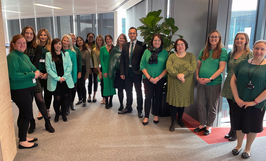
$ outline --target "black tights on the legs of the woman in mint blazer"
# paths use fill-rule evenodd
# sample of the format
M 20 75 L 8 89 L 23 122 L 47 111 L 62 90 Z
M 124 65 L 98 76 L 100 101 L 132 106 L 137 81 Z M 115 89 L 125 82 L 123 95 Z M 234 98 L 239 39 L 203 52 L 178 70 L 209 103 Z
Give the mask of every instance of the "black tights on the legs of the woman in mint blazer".
M 53 95 L 53 109 L 56 113 L 54 119 L 59 119 L 60 105 L 62 107 L 62 118 L 67 119 L 66 112 L 67 112 L 67 105 L 68 105 L 68 101 L 69 101 L 69 95 L 71 95 L 71 94 L 67 93 L 67 94 L 62 95 L 62 96 Z

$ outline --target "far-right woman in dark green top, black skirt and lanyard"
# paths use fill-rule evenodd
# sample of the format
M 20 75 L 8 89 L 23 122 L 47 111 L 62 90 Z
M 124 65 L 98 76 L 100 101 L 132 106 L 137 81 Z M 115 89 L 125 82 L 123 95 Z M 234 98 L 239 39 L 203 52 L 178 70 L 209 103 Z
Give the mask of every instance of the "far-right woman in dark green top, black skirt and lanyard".
M 241 61 L 231 79 L 233 92 L 234 130 L 237 146 L 233 155 L 239 155 L 246 135 L 246 147 L 241 157 L 250 157 L 251 145 L 257 133 L 263 131 L 263 117 L 266 103 L 266 41 L 259 40 L 253 45 L 254 58 Z M 261 147 L 263 149 L 263 147 Z

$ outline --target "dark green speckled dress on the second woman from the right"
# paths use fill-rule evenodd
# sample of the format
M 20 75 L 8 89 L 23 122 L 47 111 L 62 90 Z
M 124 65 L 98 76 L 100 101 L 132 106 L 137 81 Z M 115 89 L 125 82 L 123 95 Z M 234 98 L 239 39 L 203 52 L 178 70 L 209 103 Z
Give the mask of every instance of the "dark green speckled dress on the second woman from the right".
M 232 99 L 232 97 L 233 97 L 230 81 L 231 81 L 231 78 L 234 74 L 234 68 L 237 66 L 237 64 L 239 64 L 240 61 L 253 58 L 253 51 L 250 51 L 246 56 L 244 56 L 245 55 L 245 53 L 244 53 L 235 61 L 234 57 L 231 58 L 231 53 L 232 53 L 232 51 L 230 51 L 228 53 L 228 61 L 226 64 L 227 76 L 226 76 L 226 80 L 224 81 L 223 90 L 221 93 L 222 97 L 225 97 L 228 99 Z

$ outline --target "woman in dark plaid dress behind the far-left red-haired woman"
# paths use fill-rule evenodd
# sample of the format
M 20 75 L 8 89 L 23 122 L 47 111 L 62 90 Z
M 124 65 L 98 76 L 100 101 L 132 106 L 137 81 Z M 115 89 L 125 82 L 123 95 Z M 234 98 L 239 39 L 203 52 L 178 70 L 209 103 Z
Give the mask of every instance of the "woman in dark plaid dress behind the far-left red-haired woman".
M 23 35 L 27 41 L 27 49 L 24 51 L 24 54 L 26 54 L 29 58 L 32 64 L 37 68 L 38 64 L 40 62 L 41 56 L 42 56 L 42 46 L 38 44 L 37 35 L 33 27 L 26 26 L 22 29 L 21 35 Z M 36 102 L 36 105 L 42 114 L 45 125 L 49 125 L 48 131 L 53 133 L 54 129 L 51 126 L 48 113 L 47 113 L 47 107 L 43 100 L 43 89 L 40 84 L 40 80 L 36 79 L 36 88 L 34 91 L 34 100 Z M 40 119 L 40 118 L 38 118 Z M 32 116 L 32 119 L 30 120 L 30 127 L 28 129 L 28 133 L 31 134 L 34 132 L 35 129 L 35 119 Z M 47 129 L 47 128 L 46 128 Z

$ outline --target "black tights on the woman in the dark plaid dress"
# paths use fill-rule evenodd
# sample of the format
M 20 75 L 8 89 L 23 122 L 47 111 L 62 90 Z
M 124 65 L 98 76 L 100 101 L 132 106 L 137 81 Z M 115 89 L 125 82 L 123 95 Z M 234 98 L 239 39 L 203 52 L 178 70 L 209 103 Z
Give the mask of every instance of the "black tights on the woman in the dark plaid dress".
M 47 108 L 46 108 L 46 105 L 44 104 L 44 100 L 43 100 L 43 94 L 42 93 L 35 93 L 34 99 L 35 99 L 36 105 L 37 105 L 40 113 L 42 114 L 44 120 L 49 121 Z M 32 119 L 33 119 L 33 116 L 32 116 Z

